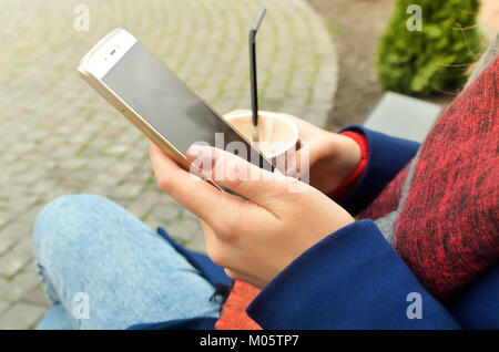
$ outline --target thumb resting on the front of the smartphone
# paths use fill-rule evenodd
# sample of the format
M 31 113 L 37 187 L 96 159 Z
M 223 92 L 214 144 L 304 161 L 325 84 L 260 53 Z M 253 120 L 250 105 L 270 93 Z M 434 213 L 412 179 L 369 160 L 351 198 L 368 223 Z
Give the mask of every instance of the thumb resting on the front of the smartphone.
M 264 170 L 232 153 L 200 145 L 187 151 L 187 161 L 206 177 L 238 195 L 267 208 L 275 201 L 269 196 L 285 193 L 289 179 Z M 272 201 L 268 201 L 272 199 Z

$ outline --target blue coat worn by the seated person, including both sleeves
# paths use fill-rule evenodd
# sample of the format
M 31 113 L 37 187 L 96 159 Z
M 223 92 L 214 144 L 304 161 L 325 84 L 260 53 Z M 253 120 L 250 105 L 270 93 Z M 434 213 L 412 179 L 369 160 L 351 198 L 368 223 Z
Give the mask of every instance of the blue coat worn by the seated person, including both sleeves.
M 340 203 L 355 214 L 370 203 L 419 145 L 361 130 L 366 169 Z M 390 151 L 390 158 L 383 151 Z M 376 175 L 376 177 L 371 177 Z M 204 277 L 231 284 L 223 268 L 164 236 Z M 309 248 L 256 297 L 247 314 L 263 329 L 499 329 L 499 266 L 441 304 L 418 282 L 375 222 L 358 220 Z M 216 319 L 142 323 L 131 329 L 213 329 Z

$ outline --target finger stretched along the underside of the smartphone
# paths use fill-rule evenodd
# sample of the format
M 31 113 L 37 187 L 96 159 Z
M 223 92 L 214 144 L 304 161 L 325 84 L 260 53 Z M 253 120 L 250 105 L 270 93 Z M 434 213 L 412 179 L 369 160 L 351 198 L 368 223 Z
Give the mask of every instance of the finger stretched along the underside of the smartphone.
M 160 188 L 210 225 L 224 219 L 231 221 L 233 209 L 242 206 L 243 199 L 221 191 L 182 169 L 153 143 L 150 156 Z

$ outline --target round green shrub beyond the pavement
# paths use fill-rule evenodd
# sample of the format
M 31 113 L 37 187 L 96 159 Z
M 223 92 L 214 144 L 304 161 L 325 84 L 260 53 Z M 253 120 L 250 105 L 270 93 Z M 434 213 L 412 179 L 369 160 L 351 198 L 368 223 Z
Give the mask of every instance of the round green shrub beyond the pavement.
M 410 4 L 421 8 L 421 31 L 407 29 Z M 478 8 L 478 0 L 397 0 L 376 53 L 381 86 L 407 94 L 460 89 L 481 52 Z

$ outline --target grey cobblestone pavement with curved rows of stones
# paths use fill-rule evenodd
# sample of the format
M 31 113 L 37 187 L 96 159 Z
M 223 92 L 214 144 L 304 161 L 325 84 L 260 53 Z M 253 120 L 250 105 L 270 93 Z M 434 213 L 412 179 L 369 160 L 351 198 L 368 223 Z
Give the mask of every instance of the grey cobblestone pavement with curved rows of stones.
M 77 31 L 78 4 L 90 30 Z M 132 32 L 218 111 L 251 106 L 247 31 L 261 6 L 262 107 L 323 125 L 334 48 L 303 0 L 0 0 L 0 329 L 34 328 L 49 309 L 31 251 L 33 219 L 57 196 L 109 197 L 204 250 L 196 218 L 159 190 L 147 139 L 77 74 L 116 27 Z

